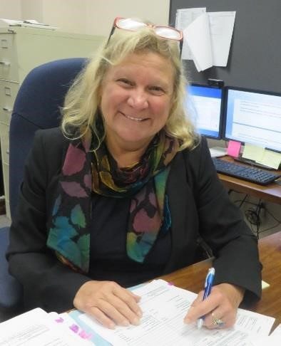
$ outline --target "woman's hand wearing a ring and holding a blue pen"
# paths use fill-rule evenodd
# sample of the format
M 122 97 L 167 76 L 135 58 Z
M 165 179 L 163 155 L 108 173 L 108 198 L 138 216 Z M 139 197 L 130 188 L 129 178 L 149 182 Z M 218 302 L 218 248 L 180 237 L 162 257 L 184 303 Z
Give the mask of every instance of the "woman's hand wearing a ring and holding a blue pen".
M 213 286 L 210 295 L 203 299 L 203 291 L 194 300 L 187 315 L 185 323 L 193 323 L 198 318 L 204 317 L 205 327 L 210 329 L 216 327 L 228 328 L 234 325 L 237 308 L 244 296 L 245 290 L 229 283 L 220 283 Z

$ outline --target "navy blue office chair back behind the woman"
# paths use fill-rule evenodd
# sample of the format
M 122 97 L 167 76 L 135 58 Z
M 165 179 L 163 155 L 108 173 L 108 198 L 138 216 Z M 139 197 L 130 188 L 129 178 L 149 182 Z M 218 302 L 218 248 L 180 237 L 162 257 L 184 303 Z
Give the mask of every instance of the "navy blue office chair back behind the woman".
M 60 108 L 71 81 L 86 63 L 85 58 L 51 61 L 26 76 L 14 103 L 10 123 L 9 192 L 11 219 L 16 209 L 24 162 L 36 130 L 57 127 Z

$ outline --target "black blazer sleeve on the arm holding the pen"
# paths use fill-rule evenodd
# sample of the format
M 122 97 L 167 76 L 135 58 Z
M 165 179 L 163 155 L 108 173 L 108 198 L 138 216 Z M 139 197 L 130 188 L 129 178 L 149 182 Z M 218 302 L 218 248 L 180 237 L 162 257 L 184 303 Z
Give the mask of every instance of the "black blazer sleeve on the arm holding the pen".
M 239 285 L 245 288 L 245 302 L 257 300 L 261 296 L 262 268 L 257 237 L 218 179 L 205 139 L 190 152 L 188 160 L 193 167 L 190 180 L 198 207 L 200 235 L 215 256 L 215 284 Z

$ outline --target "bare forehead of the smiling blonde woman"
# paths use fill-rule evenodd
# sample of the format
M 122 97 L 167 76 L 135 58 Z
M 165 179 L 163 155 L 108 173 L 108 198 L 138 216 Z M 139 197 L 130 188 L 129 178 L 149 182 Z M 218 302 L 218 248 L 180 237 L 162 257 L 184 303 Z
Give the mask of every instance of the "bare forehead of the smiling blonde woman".
M 131 53 L 117 65 L 108 68 L 106 77 L 120 74 L 129 76 L 134 73 L 139 73 L 143 78 L 150 77 L 173 83 L 175 69 L 168 58 L 158 53 Z

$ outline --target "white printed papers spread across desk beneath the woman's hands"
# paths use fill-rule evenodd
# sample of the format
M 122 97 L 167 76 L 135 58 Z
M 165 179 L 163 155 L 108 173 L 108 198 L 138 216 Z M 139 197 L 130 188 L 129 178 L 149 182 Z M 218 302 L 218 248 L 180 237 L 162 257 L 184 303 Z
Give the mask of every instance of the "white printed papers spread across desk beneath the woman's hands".
M 136 288 L 141 325 L 110 330 L 78 310 L 46 313 L 40 308 L 0 324 L 0 345 L 22 346 L 280 346 L 281 327 L 268 336 L 274 318 L 238 309 L 235 326 L 198 330 L 183 318 L 196 294 L 155 280 Z

